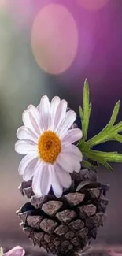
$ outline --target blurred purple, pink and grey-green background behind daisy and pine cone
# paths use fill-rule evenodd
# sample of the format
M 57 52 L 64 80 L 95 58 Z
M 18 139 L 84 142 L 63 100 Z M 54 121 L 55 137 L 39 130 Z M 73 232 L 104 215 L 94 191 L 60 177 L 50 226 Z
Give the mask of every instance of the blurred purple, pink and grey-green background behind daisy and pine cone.
M 91 137 L 122 100 L 122 0 L 0 0 L 0 241 L 28 243 L 15 213 L 26 202 L 17 190 L 20 156 L 14 152 L 21 113 L 45 94 L 65 98 L 78 113 L 86 77 Z M 122 152 L 118 143 L 98 149 Z M 96 243 L 122 243 L 122 165 L 113 168 L 99 170 L 111 189 Z

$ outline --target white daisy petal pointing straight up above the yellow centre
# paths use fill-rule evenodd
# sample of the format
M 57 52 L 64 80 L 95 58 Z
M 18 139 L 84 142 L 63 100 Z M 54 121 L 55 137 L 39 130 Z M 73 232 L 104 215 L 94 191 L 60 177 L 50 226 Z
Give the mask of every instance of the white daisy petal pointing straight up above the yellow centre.
M 46 130 L 50 125 L 50 102 L 46 95 L 41 98 L 39 113 L 41 115 L 43 128 Z

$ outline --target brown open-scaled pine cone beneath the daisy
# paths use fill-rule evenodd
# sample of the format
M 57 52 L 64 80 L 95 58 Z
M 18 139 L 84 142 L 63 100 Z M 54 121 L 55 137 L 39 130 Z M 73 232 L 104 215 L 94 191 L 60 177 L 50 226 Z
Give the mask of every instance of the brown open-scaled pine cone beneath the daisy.
M 105 218 L 108 189 L 109 185 L 99 183 L 96 173 L 87 169 L 72 174 L 72 185 L 61 198 L 56 198 L 53 191 L 36 198 L 31 180 L 22 182 L 20 191 L 30 202 L 17 211 L 20 225 L 32 243 L 48 253 L 75 255 L 96 239 Z

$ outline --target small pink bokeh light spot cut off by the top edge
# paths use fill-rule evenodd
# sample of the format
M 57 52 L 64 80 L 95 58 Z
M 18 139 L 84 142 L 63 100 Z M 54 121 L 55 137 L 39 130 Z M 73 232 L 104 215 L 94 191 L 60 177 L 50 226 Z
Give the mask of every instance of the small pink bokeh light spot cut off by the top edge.
M 98 10 L 102 9 L 109 0 L 77 0 L 80 6 L 83 6 L 85 9 L 89 10 Z

